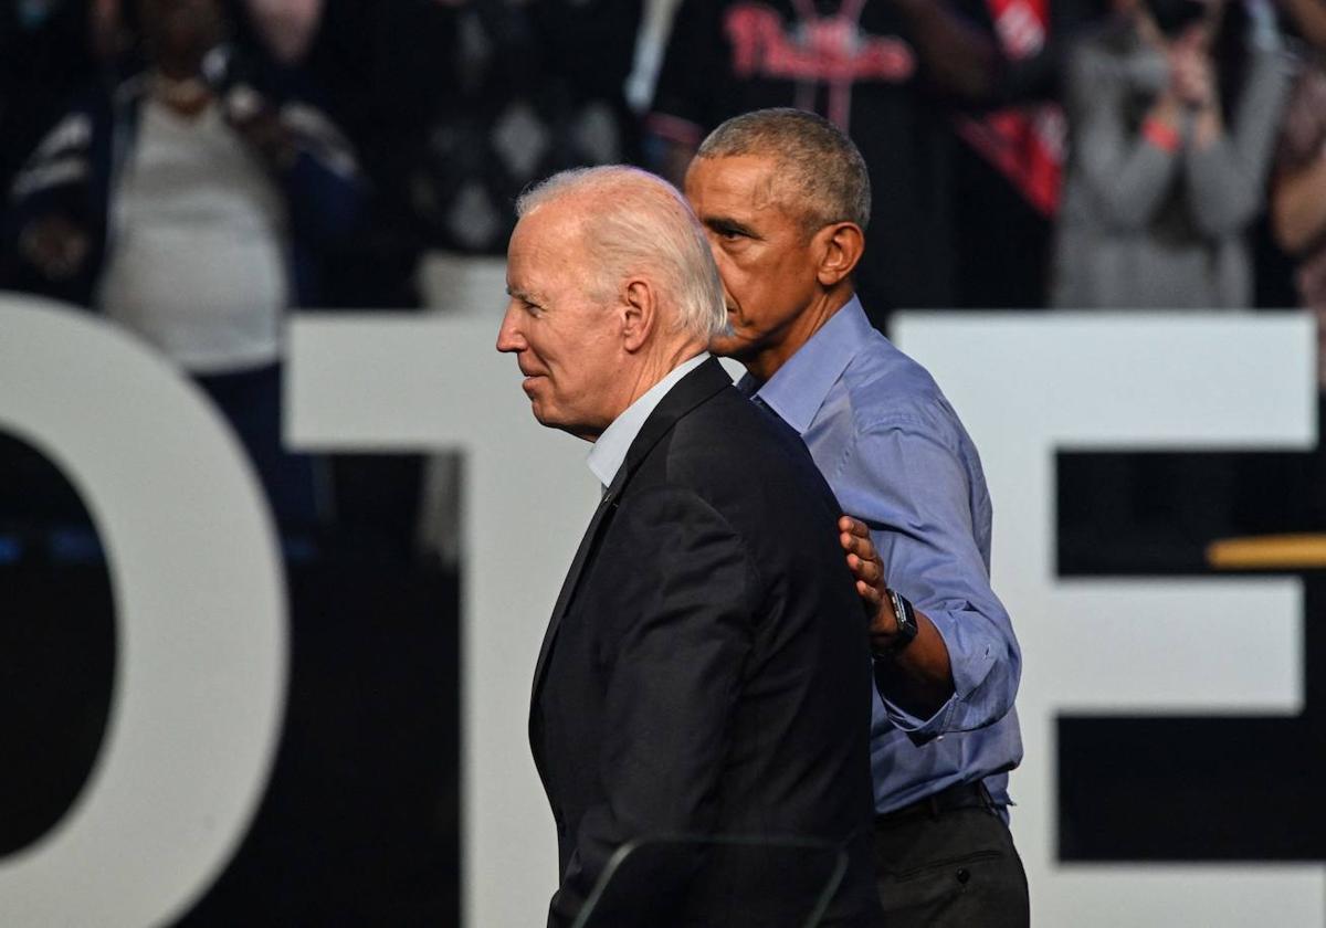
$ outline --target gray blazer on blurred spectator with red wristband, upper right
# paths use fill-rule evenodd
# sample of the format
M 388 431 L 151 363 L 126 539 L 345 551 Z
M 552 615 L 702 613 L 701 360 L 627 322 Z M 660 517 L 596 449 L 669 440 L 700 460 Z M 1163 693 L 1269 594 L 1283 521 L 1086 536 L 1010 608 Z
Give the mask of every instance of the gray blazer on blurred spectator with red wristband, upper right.
M 1232 309 L 1252 301 L 1244 231 L 1265 203 L 1289 89 L 1289 58 L 1250 48 L 1225 134 L 1199 151 L 1191 118 L 1177 151 L 1142 137 L 1168 81 L 1164 58 L 1131 28 L 1085 38 L 1069 56 L 1069 166 L 1052 302 L 1059 308 Z

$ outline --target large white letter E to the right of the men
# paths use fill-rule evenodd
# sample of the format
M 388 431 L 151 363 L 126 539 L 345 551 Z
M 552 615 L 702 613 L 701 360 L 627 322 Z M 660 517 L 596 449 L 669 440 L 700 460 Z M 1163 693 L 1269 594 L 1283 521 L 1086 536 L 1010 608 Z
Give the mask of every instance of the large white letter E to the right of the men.
M 994 589 L 1025 660 L 1017 707 L 1026 761 L 1012 791 L 1033 923 L 1326 924 L 1326 866 L 1054 860 L 1055 713 L 1293 715 L 1303 697 L 1297 579 L 1057 579 L 1054 451 L 1315 447 L 1311 321 L 914 314 L 900 319 L 898 341 L 957 408 L 994 500 Z

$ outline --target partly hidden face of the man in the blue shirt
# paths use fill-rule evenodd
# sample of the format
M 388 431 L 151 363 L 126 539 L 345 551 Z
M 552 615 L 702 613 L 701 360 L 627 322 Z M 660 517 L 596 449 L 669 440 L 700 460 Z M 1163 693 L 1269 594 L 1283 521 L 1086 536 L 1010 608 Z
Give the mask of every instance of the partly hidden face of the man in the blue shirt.
M 723 277 L 729 334 L 709 350 L 740 361 L 778 351 L 817 292 L 812 237 L 774 196 L 772 158 L 696 158 L 686 199 L 700 217 Z

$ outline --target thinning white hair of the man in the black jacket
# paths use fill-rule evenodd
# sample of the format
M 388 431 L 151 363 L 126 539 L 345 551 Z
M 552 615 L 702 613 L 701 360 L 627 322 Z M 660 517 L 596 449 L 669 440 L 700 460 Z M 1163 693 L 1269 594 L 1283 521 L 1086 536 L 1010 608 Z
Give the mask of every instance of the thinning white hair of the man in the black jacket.
M 723 281 L 704 229 L 672 184 L 625 164 L 574 168 L 521 194 L 516 216 L 573 195 L 594 200 L 579 220 L 601 265 L 598 296 L 610 298 L 622 280 L 647 270 L 672 306 L 678 330 L 708 343 L 727 327 Z

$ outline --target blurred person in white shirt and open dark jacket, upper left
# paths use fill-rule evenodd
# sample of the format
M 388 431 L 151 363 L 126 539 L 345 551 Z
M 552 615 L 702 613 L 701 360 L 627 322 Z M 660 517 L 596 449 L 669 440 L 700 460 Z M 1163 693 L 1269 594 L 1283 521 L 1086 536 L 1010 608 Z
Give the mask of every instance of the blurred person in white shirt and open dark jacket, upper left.
M 130 76 L 98 82 L 11 188 L 13 284 L 82 304 L 194 377 L 278 520 L 317 521 L 309 459 L 281 447 L 285 310 L 363 190 L 349 145 L 289 73 L 231 44 L 221 0 L 139 0 Z

